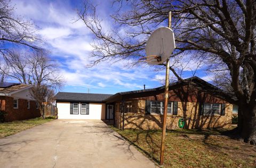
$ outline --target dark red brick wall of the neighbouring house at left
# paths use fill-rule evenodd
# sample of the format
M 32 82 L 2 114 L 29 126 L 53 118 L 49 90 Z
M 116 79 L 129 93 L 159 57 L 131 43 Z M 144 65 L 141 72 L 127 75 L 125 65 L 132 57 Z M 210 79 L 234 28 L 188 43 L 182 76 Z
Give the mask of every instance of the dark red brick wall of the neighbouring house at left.
M 5 116 L 5 121 L 15 121 L 15 120 L 27 120 L 33 119 L 35 117 L 41 116 L 38 109 L 36 109 L 36 102 L 30 101 L 30 108 L 27 108 L 26 99 L 18 99 L 18 108 L 13 108 L 13 98 L 1 96 L 0 97 L 0 107 L 2 111 L 5 111 L 7 115 Z

